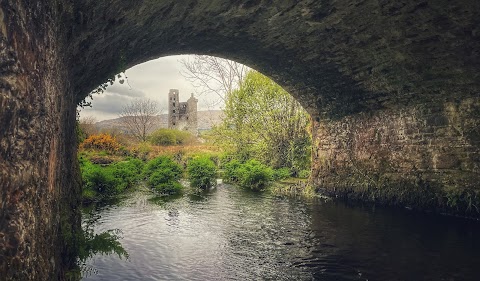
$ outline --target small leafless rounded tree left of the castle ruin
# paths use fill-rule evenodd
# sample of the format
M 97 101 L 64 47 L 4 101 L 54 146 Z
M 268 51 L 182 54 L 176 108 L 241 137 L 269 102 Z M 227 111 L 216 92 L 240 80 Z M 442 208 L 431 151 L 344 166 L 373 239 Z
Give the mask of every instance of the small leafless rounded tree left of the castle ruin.
M 146 141 L 160 114 L 158 102 L 150 99 L 135 99 L 122 108 L 121 122 L 135 138 Z

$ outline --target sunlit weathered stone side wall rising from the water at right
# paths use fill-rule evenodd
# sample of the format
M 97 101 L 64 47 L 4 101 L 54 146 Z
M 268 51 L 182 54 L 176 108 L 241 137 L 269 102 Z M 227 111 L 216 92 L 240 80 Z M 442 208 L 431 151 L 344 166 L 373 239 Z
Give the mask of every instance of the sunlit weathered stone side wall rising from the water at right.
M 353 199 L 478 216 L 480 97 L 314 122 L 314 185 Z

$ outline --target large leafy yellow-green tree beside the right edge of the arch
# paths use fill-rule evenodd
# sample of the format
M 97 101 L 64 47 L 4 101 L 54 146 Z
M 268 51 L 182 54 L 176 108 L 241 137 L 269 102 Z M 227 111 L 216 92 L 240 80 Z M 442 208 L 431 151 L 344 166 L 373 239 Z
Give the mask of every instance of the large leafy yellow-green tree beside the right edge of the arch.
M 226 99 L 216 142 L 240 161 L 255 158 L 296 175 L 310 161 L 309 116 L 293 97 L 268 77 L 249 71 Z

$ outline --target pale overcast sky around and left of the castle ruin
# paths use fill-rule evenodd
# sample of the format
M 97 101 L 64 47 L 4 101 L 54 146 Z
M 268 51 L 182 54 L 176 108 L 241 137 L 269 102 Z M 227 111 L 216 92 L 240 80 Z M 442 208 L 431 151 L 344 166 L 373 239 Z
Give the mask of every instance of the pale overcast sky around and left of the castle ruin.
M 170 56 L 136 65 L 125 73 L 128 83 L 115 82 L 100 95 L 94 95 L 91 108 L 83 108 L 80 117 L 93 116 L 97 121 L 118 118 L 122 107 L 135 98 L 155 100 L 167 112 L 167 99 L 170 89 L 180 91 L 180 100 L 186 101 L 191 93 L 195 93 L 192 84 L 181 74 L 182 65 L 179 59 L 187 56 Z M 118 80 L 118 79 L 117 79 Z M 218 98 L 198 96 L 198 110 L 220 109 L 222 104 Z M 217 104 L 213 106 L 213 104 Z

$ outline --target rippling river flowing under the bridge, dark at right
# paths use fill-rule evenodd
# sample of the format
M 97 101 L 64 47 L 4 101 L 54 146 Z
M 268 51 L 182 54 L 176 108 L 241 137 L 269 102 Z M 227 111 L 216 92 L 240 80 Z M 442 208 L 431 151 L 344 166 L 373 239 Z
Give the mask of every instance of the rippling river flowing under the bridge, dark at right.
M 97 206 L 128 259 L 96 255 L 82 280 L 480 280 L 480 223 L 282 198 L 220 184 Z

